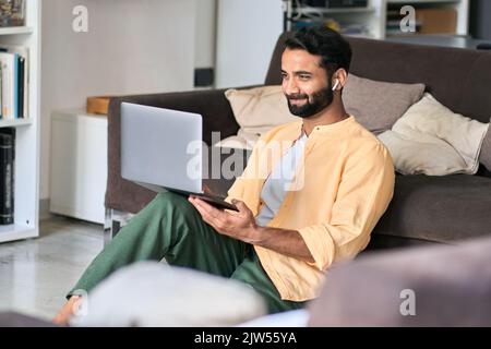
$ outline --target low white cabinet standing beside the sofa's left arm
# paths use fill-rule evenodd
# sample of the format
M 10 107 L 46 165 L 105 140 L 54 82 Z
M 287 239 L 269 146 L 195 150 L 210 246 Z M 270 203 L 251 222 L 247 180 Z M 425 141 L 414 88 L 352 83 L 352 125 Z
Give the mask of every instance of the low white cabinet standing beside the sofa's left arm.
M 53 111 L 50 212 L 104 224 L 106 181 L 107 117 Z

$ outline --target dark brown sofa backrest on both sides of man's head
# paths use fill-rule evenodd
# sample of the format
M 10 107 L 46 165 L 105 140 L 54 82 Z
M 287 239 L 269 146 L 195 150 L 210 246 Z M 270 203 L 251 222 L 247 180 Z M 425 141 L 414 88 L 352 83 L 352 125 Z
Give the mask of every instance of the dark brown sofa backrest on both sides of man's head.
M 276 44 L 266 85 L 282 83 L 285 39 Z M 350 72 L 399 83 L 424 83 L 427 91 L 454 112 L 489 122 L 491 117 L 491 52 L 347 37 L 352 48 Z

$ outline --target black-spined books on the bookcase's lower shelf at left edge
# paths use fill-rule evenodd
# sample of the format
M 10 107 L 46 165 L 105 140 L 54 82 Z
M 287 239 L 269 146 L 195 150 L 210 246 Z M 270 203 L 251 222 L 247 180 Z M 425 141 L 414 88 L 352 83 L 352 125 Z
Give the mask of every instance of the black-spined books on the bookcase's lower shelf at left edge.
M 0 129 L 0 225 L 14 222 L 15 129 Z

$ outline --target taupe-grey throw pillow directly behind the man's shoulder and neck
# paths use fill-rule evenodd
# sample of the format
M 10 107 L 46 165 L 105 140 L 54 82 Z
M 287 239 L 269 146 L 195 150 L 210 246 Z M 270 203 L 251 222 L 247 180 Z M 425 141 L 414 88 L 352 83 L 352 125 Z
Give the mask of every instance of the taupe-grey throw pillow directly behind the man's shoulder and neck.
M 350 73 L 343 89 L 343 100 L 349 115 L 369 131 L 380 134 L 391 130 L 423 93 L 424 84 L 387 83 Z

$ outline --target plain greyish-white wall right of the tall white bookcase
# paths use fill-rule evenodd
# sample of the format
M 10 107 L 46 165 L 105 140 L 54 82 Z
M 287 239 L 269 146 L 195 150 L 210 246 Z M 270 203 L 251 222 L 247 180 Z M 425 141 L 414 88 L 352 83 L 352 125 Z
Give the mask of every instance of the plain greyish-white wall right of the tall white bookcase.
M 201 1 L 201 0 L 196 0 Z M 74 33 L 72 9 L 88 9 Z M 191 89 L 195 0 L 44 0 L 40 198 L 49 196 L 50 112 L 91 95 Z

